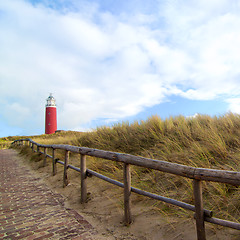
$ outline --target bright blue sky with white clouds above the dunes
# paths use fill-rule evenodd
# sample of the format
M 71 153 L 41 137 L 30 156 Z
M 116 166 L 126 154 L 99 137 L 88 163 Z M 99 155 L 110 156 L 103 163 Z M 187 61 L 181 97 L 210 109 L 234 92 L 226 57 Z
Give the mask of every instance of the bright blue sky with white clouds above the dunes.
M 239 0 L 0 0 L 0 137 L 240 114 Z

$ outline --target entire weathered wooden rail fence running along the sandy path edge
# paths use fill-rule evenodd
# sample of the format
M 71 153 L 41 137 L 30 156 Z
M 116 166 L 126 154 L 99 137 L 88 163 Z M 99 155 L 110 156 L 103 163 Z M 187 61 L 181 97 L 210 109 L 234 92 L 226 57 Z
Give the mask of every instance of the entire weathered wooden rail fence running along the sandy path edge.
M 157 199 L 169 204 L 176 205 L 178 207 L 195 212 L 194 218 L 196 219 L 196 229 L 197 229 L 197 239 L 205 240 L 205 222 L 210 222 L 218 224 L 225 227 L 230 227 L 240 230 L 240 224 L 236 222 L 231 222 L 219 218 L 212 217 L 213 212 L 203 208 L 203 198 L 202 198 L 202 181 L 213 181 L 220 183 L 227 183 L 234 186 L 240 185 L 240 172 L 224 171 L 224 170 L 213 170 L 206 168 L 194 168 L 181 164 L 170 163 L 166 161 L 154 160 L 150 158 L 138 157 L 129 154 L 116 153 L 110 151 L 103 151 L 98 149 L 86 148 L 86 147 L 76 147 L 71 145 L 43 145 L 32 141 L 31 139 L 20 139 L 12 143 L 12 145 L 28 145 L 32 148 L 32 151 L 44 154 L 44 165 L 46 165 L 46 159 L 52 159 L 52 171 L 53 175 L 57 173 L 56 164 L 62 164 L 64 166 L 63 172 L 63 187 L 68 185 L 67 170 L 73 169 L 80 172 L 81 175 L 81 203 L 85 203 L 87 200 L 87 185 L 86 179 L 88 176 L 93 175 L 100 179 L 103 179 L 109 183 L 122 187 L 124 189 L 124 219 L 125 223 L 128 225 L 132 222 L 131 216 L 131 192 L 135 192 L 153 199 Z M 40 148 L 44 151 L 41 152 Z M 47 154 L 47 149 L 52 150 L 52 155 Z M 65 150 L 65 159 L 60 161 L 55 158 L 55 150 L 62 149 Z M 69 152 L 80 154 L 80 166 L 77 168 L 68 164 L 69 162 Z M 97 158 L 108 159 L 116 162 L 121 162 L 124 164 L 123 176 L 124 182 L 108 178 L 102 174 L 95 171 L 87 169 L 86 166 L 86 156 L 93 156 Z M 131 187 L 131 172 L 130 165 L 141 166 L 145 168 L 155 169 L 161 172 L 171 173 L 178 176 L 193 179 L 193 195 L 194 195 L 194 205 L 177 201 L 175 199 L 166 198 L 153 193 L 149 193 L 134 187 Z

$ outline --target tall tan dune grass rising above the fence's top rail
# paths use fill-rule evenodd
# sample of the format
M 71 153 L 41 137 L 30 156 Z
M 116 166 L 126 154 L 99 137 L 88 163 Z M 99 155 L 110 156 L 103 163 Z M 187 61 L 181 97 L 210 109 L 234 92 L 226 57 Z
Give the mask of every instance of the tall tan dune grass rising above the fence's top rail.
M 221 167 L 240 146 L 240 116 L 207 115 L 122 123 L 83 133 L 74 144 L 164 158 L 198 167 Z M 225 166 L 226 167 L 226 166 Z

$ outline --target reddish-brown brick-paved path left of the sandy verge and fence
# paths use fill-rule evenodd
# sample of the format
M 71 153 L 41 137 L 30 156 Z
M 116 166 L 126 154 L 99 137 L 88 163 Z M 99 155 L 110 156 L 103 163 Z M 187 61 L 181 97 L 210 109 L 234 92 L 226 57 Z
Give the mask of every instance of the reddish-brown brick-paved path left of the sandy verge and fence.
M 0 239 L 95 239 L 89 222 L 63 203 L 14 150 L 0 150 Z

